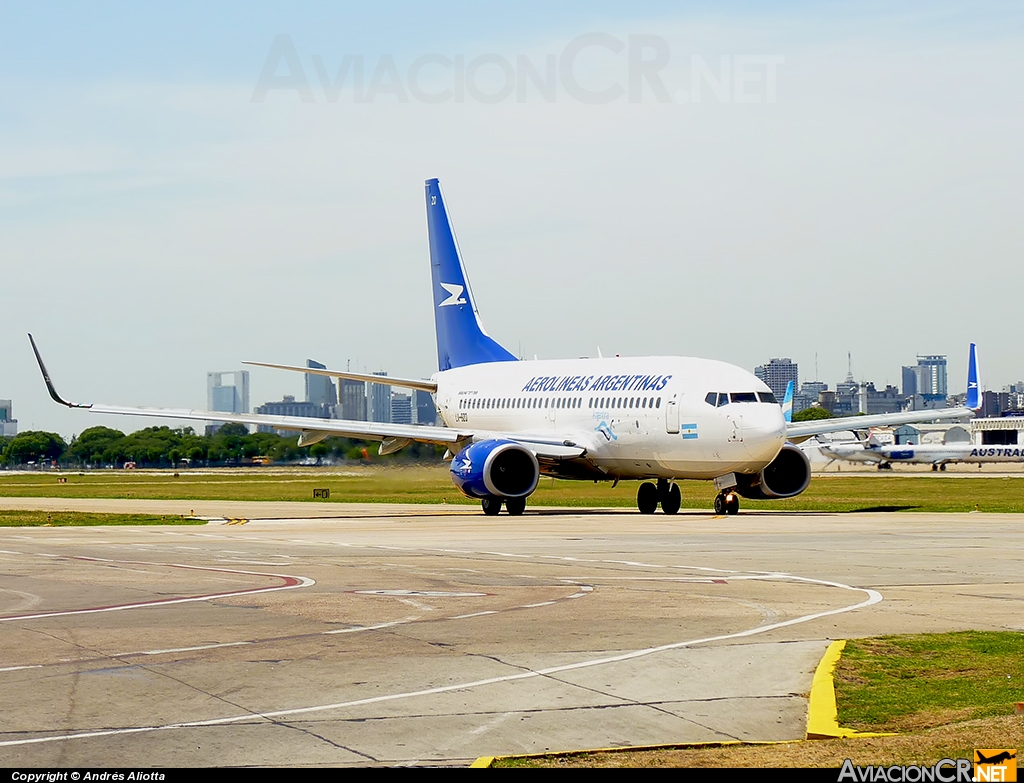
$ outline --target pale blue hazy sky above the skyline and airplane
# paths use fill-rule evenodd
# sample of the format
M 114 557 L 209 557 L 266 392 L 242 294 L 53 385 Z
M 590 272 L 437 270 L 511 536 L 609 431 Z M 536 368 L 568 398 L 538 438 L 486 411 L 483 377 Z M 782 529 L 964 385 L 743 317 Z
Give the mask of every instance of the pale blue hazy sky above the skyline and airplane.
M 763 6 L 0 2 L 0 398 L 429 377 L 431 177 L 520 356 L 1024 378 L 1024 9 Z

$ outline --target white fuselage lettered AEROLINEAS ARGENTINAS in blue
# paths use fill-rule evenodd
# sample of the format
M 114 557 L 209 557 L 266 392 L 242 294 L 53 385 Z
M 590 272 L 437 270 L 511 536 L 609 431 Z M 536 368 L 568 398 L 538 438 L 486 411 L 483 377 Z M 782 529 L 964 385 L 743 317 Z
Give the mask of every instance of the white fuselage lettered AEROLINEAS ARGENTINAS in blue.
M 501 361 L 434 376 L 449 427 L 587 449 L 578 478 L 713 479 L 757 473 L 785 442 L 782 410 L 754 375 L 680 356 Z M 571 476 L 565 465 L 542 472 Z

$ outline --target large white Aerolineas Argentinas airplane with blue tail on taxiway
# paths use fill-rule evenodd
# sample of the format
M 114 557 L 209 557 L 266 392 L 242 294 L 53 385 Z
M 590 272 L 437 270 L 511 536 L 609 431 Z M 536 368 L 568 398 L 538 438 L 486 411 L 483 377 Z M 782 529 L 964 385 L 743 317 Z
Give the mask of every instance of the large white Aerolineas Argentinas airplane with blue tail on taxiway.
M 381 424 L 167 407 L 75 403 L 54 389 L 29 335 L 50 397 L 94 414 L 265 425 L 300 433 L 299 445 L 340 436 L 380 441 L 382 454 L 413 441 L 443 445 L 451 478 L 484 514 L 522 514 L 542 475 L 639 480 L 637 508 L 679 511 L 678 482 L 714 481 L 717 514 L 739 497 L 800 494 L 811 478 L 797 445 L 849 421 L 787 422 L 771 389 L 724 361 L 685 356 L 519 360 L 484 331 L 437 179 L 425 185 L 437 373 L 429 381 L 290 364 L 264 367 L 383 383 L 433 395 L 444 426 Z M 860 427 L 957 418 L 979 405 L 971 345 L 966 407 L 860 417 Z M 973 387 L 970 384 L 974 383 Z M 972 396 L 973 395 L 973 396 Z M 837 423 L 838 422 L 838 423 Z

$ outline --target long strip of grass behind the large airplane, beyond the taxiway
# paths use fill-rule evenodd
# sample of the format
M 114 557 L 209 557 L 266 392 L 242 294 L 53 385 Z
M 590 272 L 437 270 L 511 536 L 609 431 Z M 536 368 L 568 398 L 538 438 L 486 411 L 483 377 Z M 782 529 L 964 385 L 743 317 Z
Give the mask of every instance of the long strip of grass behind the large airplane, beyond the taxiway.
M 446 465 L 408 468 L 354 467 L 323 471 L 90 471 L 0 473 L 0 497 L 143 497 L 156 499 L 310 501 L 314 488 L 331 490 L 326 503 L 425 503 L 476 505 L 453 486 Z M 637 482 L 542 478 L 534 506 L 624 507 L 636 503 Z M 715 488 L 706 481 L 680 484 L 684 509 L 708 510 Z M 742 501 L 745 510 L 855 512 L 916 511 L 1024 513 L 1024 475 L 1006 477 L 816 476 L 807 491 L 786 501 Z

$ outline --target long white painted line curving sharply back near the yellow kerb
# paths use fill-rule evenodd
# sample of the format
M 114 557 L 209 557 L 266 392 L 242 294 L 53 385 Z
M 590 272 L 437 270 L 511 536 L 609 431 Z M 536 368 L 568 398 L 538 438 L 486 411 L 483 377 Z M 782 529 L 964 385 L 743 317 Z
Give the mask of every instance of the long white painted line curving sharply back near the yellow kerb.
M 768 632 L 771 630 L 777 630 L 778 628 L 790 627 L 791 625 L 799 625 L 804 622 L 810 622 L 812 620 L 821 619 L 822 617 L 831 617 L 837 614 L 852 612 L 855 611 L 856 609 L 862 609 L 867 606 L 872 606 L 882 601 L 882 594 L 876 590 L 870 590 L 868 588 L 854 588 L 849 584 L 843 584 L 842 582 L 825 581 L 823 579 L 812 579 L 804 576 L 790 576 L 788 578 L 794 579 L 796 581 L 807 582 L 809 584 L 823 584 L 829 588 L 849 590 L 855 593 L 864 593 L 867 595 L 867 598 L 859 603 L 850 604 L 849 606 L 844 606 L 839 609 L 828 609 L 823 612 L 805 614 L 800 617 L 794 617 L 793 619 L 790 620 L 783 620 L 781 622 L 773 622 L 768 625 L 759 625 L 757 627 L 748 628 L 746 630 L 738 630 L 733 634 L 723 634 L 717 637 L 705 637 L 703 639 L 690 639 L 685 642 L 674 642 L 672 644 L 659 645 L 657 647 L 646 647 L 641 650 L 633 650 L 632 652 L 622 653 L 620 655 L 609 655 L 604 658 L 592 658 L 591 660 L 578 661 L 577 663 L 565 663 L 560 666 L 550 666 L 548 668 L 535 669 L 530 671 L 520 671 L 515 675 L 494 677 L 487 680 L 474 680 L 467 683 L 457 683 L 455 685 L 445 685 L 437 688 L 425 688 L 419 691 L 406 691 L 402 693 L 385 694 L 383 696 L 371 696 L 365 699 L 353 699 L 351 701 L 338 701 L 332 704 L 316 704 L 308 707 L 294 707 L 292 709 L 267 710 L 265 712 L 247 712 L 246 714 L 230 715 L 228 717 L 214 717 L 208 721 L 189 721 L 186 723 L 165 724 L 162 726 L 140 726 L 128 729 L 105 729 L 92 732 L 51 735 L 48 737 L 34 737 L 32 739 L 6 740 L 4 742 L 0 742 L 0 747 L 11 747 L 14 745 L 34 745 L 45 742 L 62 742 L 65 740 L 70 740 L 70 739 L 89 739 L 91 737 L 111 737 L 111 736 L 118 736 L 125 734 L 141 734 L 144 732 L 173 731 L 177 729 L 196 729 L 205 726 L 228 726 L 230 724 L 240 724 L 240 723 L 259 721 L 259 720 L 273 721 L 280 717 L 290 717 L 293 715 L 307 715 L 313 712 L 325 712 L 336 709 L 347 709 L 351 707 L 362 706 L 366 704 L 380 704 L 386 701 L 398 701 L 402 699 L 419 698 L 422 696 L 434 696 L 440 693 L 464 691 L 470 688 L 483 688 L 488 685 L 497 685 L 500 683 L 512 683 L 519 680 L 532 680 L 534 678 L 549 677 L 551 675 L 559 675 L 564 671 L 575 671 L 579 669 L 591 668 L 593 666 L 602 666 L 608 663 L 618 663 L 626 660 L 635 660 L 636 658 L 642 658 L 647 655 L 667 652 L 669 650 L 679 650 L 684 647 L 695 647 L 696 645 L 711 644 L 713 642 L 727 642 L 732 639 L 742 639 L 745 637 L 758 636 L 761 634 L 767 634 Z

